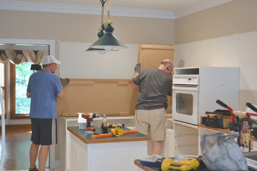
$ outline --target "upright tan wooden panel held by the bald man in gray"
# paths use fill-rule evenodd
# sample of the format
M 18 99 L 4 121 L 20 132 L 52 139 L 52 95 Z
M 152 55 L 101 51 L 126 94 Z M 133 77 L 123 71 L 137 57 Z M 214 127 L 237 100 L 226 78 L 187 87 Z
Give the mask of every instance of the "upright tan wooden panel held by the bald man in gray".
M 141 63 L 141 71 L 145 68 L 158 68 L 164 59 L 173 62 L 174 49 L 172 45 L 139 45 L 138 63 Z

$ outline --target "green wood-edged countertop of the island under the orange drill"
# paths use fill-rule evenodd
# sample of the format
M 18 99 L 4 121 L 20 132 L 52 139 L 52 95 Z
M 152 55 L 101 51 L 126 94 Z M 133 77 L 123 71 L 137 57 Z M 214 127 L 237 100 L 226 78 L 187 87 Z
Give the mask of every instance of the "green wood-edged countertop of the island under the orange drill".
M 109 133 L 111 128 L 108 128 Z M 131 130 L 129 128 L 123 127 L 124 131 Z M 142 133 L 133 133 L 121 136 L 112 136 L 112 137 L 105 137 L 105 138 L 91 138 L 92 134 L 86 134 L 85 130 L 79 129 L 78 126 L 70 126 L 67 127 L 67 130 L 70 131 L 73 135 L 79 138 L 86 144 L 92 143 L 110 143 L 110 142 L 128 142 L 128 141 L 148 141 L 151 140 L 151 137 L 148 135 L 144 135 Z M 100 127 L 96 128 L 96 133 L 101 134 L 102 129 Z

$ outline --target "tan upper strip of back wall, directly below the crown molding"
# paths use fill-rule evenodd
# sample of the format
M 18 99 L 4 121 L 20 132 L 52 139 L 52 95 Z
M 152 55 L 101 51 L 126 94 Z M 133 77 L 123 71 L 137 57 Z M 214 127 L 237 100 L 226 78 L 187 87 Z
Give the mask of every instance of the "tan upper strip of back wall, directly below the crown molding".
M 101 25 L 100 15 L 0 10 L 0 16 L 1 38 L 95 42 Z M 175 43 L 175 20 L 118 16 L 111 19 L 113 34 L 122 43 Z

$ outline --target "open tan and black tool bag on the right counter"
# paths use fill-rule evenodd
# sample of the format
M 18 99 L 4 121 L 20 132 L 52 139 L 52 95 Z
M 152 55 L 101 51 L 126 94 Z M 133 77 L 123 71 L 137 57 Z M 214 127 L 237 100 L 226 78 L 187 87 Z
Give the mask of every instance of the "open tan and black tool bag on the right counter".
M 229 128 L 229 123 L 231 122 L 229 110 L 215 110 L 214 112 L 205 112 L 205 114 L 207 114 L 205 126 L 222 129 Z

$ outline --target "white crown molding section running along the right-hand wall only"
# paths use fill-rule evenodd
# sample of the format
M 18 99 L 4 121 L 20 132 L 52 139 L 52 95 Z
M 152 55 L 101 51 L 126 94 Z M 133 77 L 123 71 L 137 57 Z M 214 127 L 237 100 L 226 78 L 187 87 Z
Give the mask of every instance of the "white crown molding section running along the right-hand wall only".
M 233 1 L 233 0 L 203 0 L 195 4 L 192 4 L 190 6 L 174 11 L 174 15 L 175 15 L 175 18 L 180 18 L 180 17 L 184 17 L 186 15 L 193 14 L 198 11 L 203 11 L 205 9 L 212 8 L 217 5 L 221 5 L 230 1 Z

